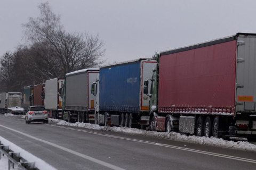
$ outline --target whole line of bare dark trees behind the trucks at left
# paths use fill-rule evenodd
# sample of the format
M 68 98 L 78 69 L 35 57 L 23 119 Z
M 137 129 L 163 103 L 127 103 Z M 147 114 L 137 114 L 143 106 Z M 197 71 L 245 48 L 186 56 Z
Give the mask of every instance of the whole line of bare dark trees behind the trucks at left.
M 101 59 L 104 43 L 98 35 L 67 32 L 48 2 L 38 8 L 39 16 L 22 24 L 26 44 L 0 59 L 0 92 L 22 92 L 24 86 L 64 78 L 66 73 L 105 62 Z

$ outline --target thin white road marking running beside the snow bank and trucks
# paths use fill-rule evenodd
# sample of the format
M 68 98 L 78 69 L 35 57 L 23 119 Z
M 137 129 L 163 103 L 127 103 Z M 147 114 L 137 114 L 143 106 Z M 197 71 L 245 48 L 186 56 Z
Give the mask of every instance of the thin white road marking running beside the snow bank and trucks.
M 56 126 L 56 125 L 50 125 L 50 126 L 65 128 L 63 126 Z M 65 128 L 65 129 L 68 129 L 68 128 Z M 76 130 L 76 129 L 74 129 L 74 130 Z M 123 140 L 130 140 L 130 141 L 135 141 L 135 142 L 147 143 L 147 144 L 150 144 L 150 145 L 157 145 L 157 146 L 167 147 L 167 148 L 172 148 L 172 149 L 185 150 L 185 151 L 190 151 L 190 152 L 196 152 L 198 154 L 211 155 L 211 156 L 222 157 L 222 158 L 227 158 L 227 159 L 234 159 L 234 160 L 240 160 L 240 161 L 243 161 L 243 162 L 249 162 L 249 163 L 256 164 L 256 160 L 255 159 L 247 159 L 247 158 L 242 158 L 242 157 L 235 157 L 235 156 L 217 154 L 217 153 L 214 153 L 214 152 L 207 152 L 207 151 L 202 151 L 202 150 L 189 149 L 187 147 L 186 148 L 185 147 L 177 147 L 177 146 L 173 146 L 173 145 L 167 145 L 167 144 L 162 144 L 162 143 L 155 143 L 155 142 L 138 140 L 138 139 L 132 139 L 132 138 L 118 137 L 118 136 L 109 135 L 109 134 L 98 134 L 97 132 L 88 132 L 88 131 L 84 131 L 84 132 L 86 132 L 86 133 L 93 133 L 93 134 L 97 134 L 97 135 L 102 135 L 102 136 L 110 137 L 110 138 L 118 138 L 118 139 L 123 139 Z

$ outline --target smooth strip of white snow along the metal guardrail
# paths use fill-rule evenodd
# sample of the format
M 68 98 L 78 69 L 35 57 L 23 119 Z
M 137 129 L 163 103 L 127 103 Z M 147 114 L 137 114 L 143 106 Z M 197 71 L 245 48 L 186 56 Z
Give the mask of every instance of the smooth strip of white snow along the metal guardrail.
M 11 150 L 13 150 L 14 152 L 20 152 L 20 156 L 24 159 L 26 159 L 28 162 L 35 162 L 35 166 L 38 169 L 54 169 L 54 167 L 52 167 L 51 165 L 47 164 L 46 162 L 44 162 L 44 160 L 39 159 L 38 157 L 30 154 L 28 151 L 18 147 L 17 145 L 15 145 L 14 143 L 10 142 L 9 140 L 4 139 L 3 137 L 0 136 L 0 141 L 3 145 L 7 145 L 10 147 Z M 2 156 L 1 156 L 2 159 Z M 0 162 L 1 163 L 1 162 Z M 1 164 L 2 165 L 2 164 Z M 7 167 L 8 167 L 8 163 L 7 163 Z M 1 167 L 0 167 L 1 169 Z M 1 169 L 2 170 L 2 169 Z

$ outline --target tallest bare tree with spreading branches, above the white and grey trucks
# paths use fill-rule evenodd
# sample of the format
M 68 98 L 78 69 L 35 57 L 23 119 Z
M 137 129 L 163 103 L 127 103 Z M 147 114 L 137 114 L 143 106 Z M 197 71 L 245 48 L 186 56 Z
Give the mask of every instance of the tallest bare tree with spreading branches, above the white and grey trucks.
M 104 43 L 99 35 L 66 32 L 60 22 L 60 16 L 52 12 L 48 2 L 39 4 L 38 8 L 38 18 L 30 18 L 28 23 L 23 24 L 24 35 L 28 42 L 33 44 L 31 47 L 39 45 L 39 49 L 33 48 L 38 57 L 49 63 L 49 66 L 54 65 L 50 66 L 47 72 L 63 77 L 68 72 L 95 67 L 105 62 L 101 60 L 105 49 L 102 49 Z

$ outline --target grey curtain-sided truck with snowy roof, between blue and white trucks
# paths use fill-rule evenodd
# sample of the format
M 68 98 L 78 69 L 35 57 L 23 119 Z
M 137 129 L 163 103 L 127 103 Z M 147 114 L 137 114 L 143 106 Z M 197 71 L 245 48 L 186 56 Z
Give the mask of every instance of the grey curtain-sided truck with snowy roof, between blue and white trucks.
M 99 68 L 91 68 L 66 74 L 63 88 L 60 88 L 63 120 L 94 122 L 95 97 L 90 92 L 90 84 L 98 73 Z

